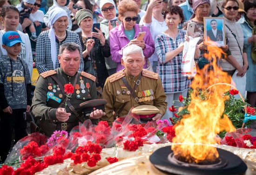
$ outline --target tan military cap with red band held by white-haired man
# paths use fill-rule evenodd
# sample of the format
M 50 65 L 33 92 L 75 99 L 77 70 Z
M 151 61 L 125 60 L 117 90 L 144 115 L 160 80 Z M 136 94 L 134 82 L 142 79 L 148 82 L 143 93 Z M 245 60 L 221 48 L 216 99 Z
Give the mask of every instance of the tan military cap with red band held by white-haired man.
M 141 122 L 152 120 L 155 114 L 159 113 L 160 110 L 153 105 L 140 105 L 132 109 L 133 114 L 139 115 Z

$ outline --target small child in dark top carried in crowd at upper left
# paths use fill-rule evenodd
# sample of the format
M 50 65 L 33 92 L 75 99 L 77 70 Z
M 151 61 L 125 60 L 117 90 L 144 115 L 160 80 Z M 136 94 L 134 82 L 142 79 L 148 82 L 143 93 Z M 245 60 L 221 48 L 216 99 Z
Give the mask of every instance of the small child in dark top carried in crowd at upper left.
M 20 11 L 20 24 L 23 23 L 25 18 L 30 18 L 30 13 L 32 11 L 32 8 L 34 6 L 35 0 L 22 0 L 20 4 L 18 4 L 16 7 Z M 32 20 L 33 21 L 33 20 Z M 29 26 L 29 31 L 31 32 L 30 39 L 34 42 L 36 42 L 37 35 L 34 27 L 34 23 L 32 22 Z

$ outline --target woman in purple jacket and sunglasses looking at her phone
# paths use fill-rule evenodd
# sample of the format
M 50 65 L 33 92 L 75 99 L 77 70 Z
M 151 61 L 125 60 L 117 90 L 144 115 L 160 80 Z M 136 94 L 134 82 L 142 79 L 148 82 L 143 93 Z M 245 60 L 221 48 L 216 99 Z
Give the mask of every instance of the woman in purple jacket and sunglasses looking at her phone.
M 118 6 L 118 19 L 121 25 L 110 31 L 110 51 L 112 59 L 117 63 L 116 71 L 124 68 L 121 65 L 122 51 L 127 45 L 135 44 L 142 48 L 146 58 L 144 69 L 149 67 L 148 59 L 155 52 L 155 42 L 146 26 L 136 24 L 139 7 L 133 0 L 122 0 Z M 136 39 L 139 32 L 146 32 L 143 40 Z M 151 69 L 151 71 L 153 71 Z

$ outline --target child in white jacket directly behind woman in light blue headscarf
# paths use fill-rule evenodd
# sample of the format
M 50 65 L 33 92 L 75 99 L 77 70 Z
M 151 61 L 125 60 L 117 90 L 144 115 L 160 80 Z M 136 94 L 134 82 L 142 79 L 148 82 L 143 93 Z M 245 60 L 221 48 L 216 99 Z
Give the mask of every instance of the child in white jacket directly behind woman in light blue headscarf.
M 48 12 L 45 14 L 44 16 L 44 22 L 46 24 L 47 27 L 51 28 L 50 26 L 50 22 L 49 22 L 49 14 L 51 13 L 51 11 L 54 10 L 54 8 L 56 7 L 60 7 L 63 10 L 65 10 L 67 12 L 67 20 L 68 20 L 68 24 L 67 24 L 67 29 L 71 30 L 72 29 L 72 21 L 70 18 L 70 10 L 67 8 L 67 5 L 69 4 L 69 0 L 54 0 L 54 4 L 53 6 L 51 6 L 48 10 Z

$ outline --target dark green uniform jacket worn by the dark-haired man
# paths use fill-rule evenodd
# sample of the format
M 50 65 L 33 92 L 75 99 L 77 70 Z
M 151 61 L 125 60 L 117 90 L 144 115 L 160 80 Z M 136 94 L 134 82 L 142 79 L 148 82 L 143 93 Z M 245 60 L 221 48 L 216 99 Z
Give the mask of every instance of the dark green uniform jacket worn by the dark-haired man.
M 55 113 L 57 108 L 65 108 L 65 102 L 63 101 L 66 98 L 66 94 L 61 92 L 57 83 L 50 75 L 58 78 L 63 87 L 68 83 L 74 84 L 75 75 L 73 77 L 68 76 L 61 68 L 47 72 L 47 74 L 46 72 L 42 73 L 37 81 L 32 100 L 31 112 L 37 119 L 46 120 L 48 123 L 55 123 L 56 130 L 61 130 L 62 122 L 58 121 Z M 79 104 L 88 100 L 97 99 L 97 90 L 94 81 L 94 76 L 85 72 L 78 72 L 74 93 L 71 95 L 71 98 L 69 98 L 69 101 L 80 116 L 82 116 L 82 111 L 79 108 Z M 83 82 L 84 88 L 81 86 L 81 82 Z M 82 91 L 83 89 L 84 91 Z M 66 122 L 67 131 L 70 131 L 75 125 L 78 125 L 79 119 L 68 108 L 68 106 L 66 107 L 66 111 L 71 113 L 71 116 L 69 116 L 69 119 Z

